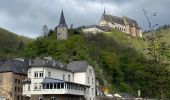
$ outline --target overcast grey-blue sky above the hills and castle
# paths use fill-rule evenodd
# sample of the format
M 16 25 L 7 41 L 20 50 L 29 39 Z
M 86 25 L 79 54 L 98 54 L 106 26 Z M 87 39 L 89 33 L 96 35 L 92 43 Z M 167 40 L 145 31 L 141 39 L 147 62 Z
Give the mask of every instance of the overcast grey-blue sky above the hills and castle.
M 19 35 L 35 38 L 42 26 L 54 29 L 62 8 L 68 26 L 98 24 L 104 7 L 107 14 L 128 16 L 146 29 L 142 9 L 159 25 L 170 24 L 170 0 L 0 0 L 0 27 Z

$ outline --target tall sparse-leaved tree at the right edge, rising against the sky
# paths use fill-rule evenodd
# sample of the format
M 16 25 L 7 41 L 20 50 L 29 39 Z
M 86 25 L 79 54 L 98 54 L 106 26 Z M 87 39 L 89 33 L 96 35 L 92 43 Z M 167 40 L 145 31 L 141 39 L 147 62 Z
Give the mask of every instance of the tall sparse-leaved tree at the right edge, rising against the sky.
M 148 16 L 148 12 L 143 10 L 144 15 L 148 22 L 148 28 L 150 35 L 147 37 L 148 48 L 148 72 L 152 81 L 152 88 L 157 92 L 158 100 L 165 100 L 166 86 L 169 84 L 168 79 L 170 78 L 170 72 L 168 70 L 169 63 L 166 60 L 166 51 L 169 50 L 167 43 L 161 41 L 160 31 L 155 31 L 158 24 L 152 25 L 150 19 L 157 16 L 155 12 L 151 17 Z M 151 86 L 151 85 L 150 85 Z

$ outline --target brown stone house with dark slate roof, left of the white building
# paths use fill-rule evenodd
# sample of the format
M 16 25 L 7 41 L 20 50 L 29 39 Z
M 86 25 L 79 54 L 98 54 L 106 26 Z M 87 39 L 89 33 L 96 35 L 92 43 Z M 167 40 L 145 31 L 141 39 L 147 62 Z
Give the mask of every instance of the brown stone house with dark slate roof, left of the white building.
M 27 76 L 24 61 L 0 61 L 0 100 L 25 100 L 22 96 L 22 80 Z

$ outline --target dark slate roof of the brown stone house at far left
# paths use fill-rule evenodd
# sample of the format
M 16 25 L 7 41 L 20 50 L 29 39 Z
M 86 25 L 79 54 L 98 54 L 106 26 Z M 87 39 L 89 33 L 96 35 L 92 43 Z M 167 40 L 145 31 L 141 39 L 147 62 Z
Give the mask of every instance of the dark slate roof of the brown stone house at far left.
M 13 72 L 18 74 L 27 74 L 27 67 L 25 62 L 17 60 L 6 60 L 0 66 L 0 73 L 2 72 Z

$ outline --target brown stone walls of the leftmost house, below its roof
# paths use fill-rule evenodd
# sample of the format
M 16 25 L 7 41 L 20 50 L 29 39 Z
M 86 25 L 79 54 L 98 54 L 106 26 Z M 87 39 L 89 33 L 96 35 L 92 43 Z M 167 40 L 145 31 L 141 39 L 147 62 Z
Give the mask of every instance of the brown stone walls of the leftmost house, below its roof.
M 24 100 L 22 96 L 22 80 L 26 75 L 12 72 L 0 73 L 0 96 L 7 100 Z

